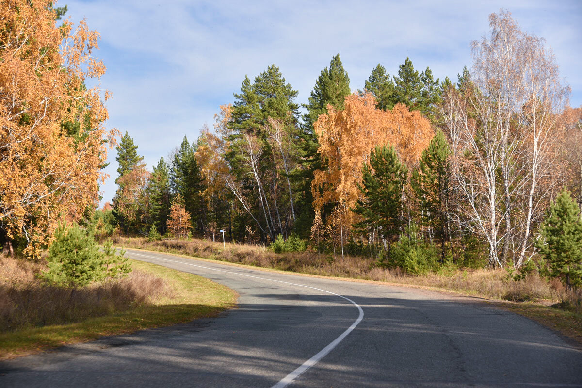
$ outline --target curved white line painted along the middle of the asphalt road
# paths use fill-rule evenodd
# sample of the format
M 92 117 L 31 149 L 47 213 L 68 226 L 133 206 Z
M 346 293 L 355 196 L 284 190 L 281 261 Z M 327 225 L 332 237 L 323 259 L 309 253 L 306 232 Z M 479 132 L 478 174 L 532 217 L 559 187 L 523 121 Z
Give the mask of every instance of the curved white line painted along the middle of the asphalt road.
M 317 287 L 305 286 L 304 284 L 283 282 L 283 280 L 268 279 L 267 277 L 246 275 L 244 273 L 233 272 L 233 271 L 228 271 L 228 270 L 224 270 L 224 269 L 210 268 L 210 267 L 205 267 L 203 265 L 191 264 L 191 263 L 186 263 L 186 262 L 178 261 L 178 260 L 162 259 L 160 257 L 148 256 L 148 255 L 144 255 L 144 254 L 136 253 L 136 252 L 131 252 L 131 254 L 133 254 L 133 255 L 139 255 L 139 256 L 144 256 L 144 257 L 149 257 L 149 258 L 157 259 L 157 260 L 164 260 L 164 261 L 169 261 L 169 262 L 174 262 L 174 263 L 179 263 L 179 264 L 186 264 L 186 265 L 190 265 L 190 266 L 193 266 L 193 267 L 210 269 L 210 270 L 215 270 L 215 271 L 218 271 L 218 272 L 233 273 L 234 275 L 240 275 L 240 276 L 246 276 L 246 277 L 254 277 L 255 279 L 269 280 L 270 282 L 291 284 L 292 286 L 305 287 L 306 289 L 318 290 L 318 291 L 322 291 L 324 293 L 332 294 L 332 295 L 334 295 L 336 297 L 343 298 L 343 299 L 349 301 L 350 303 L 352 303 L 354 306 L 356 306 L 358 308 L 358 311 L 360 312 L 360 315 L 358 316 L 358 319 L 356 319 L 356 321 L 354 321 L 354 323 L 352 323 L 352 326 L 350 326 L 349 328 L 347 328 L 346 331 L 343 332 L 342 334 L 340 334 L 340 336 L 338 338 L 336 338 L 335 340 L 333 340 L 332 343 L 330 343 L 328 346 L 324 347 L 322 350 L 320 350 L 319 353 L 315 354 L 313 357 L 311 357 L 310 359 L 308 359 L 306 362 L 304 362 L 303 364 L 299 365 L 297 367 L 297 369 L 295 369 L 293 372 L 289 373 L 289 375 L 285 376 L 283 379 L 281 379 L 281 381 L 279 381 L 278 383 L 276 383 L 271 388 L 285 388 L 290 383 L 292 383 L 294 379 L 296 379 L 299 376 L 301 376 L 301 374 L 303 374 L 305 371 L 307 371 L 307 369 L 309 369 L 309 368 L 311 368 L 311 366 L 317 364 L 317 362 L 320 361 L 320 359 L 324 358 L 325 355 L 327 355 L 329 352 L 331 352 L 333 350 L 333 348 L 335 348 L 336 346 L 338 346 L 338 344 L 347 336 L 347 334 L 351 333 L 352 330 L 355 329 L 356 326 L 364 318 L 364 311 L 362 310 L 362 308 L 360 307 L 360 305 L 357 304 L 356 302 L 354 302 L 353 300 L 351 300 L 350 298 L 346 298 L 345 296 L 341 296 L 339 294 L 332 293 L 331 291 L 318 289 Z

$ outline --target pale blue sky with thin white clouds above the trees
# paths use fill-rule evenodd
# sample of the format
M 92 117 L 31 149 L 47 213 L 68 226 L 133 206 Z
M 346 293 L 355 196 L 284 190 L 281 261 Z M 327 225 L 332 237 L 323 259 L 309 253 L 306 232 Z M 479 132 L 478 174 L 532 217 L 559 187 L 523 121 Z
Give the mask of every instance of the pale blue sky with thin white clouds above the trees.
M 456 79 L 471 65 L 470 42 L 488 32 L 503 7 L 521 29 L 546 39 L 560 76 L 582 104 L 582 1 L 63 1 L 73 22 L 101 33 L 108 127 L 128 131 L 148 168 L 184 135 L 196 140 L 219 104 L 233 102 L 245 74 L 271 63 L 307 98 L 321 70 L 340 54 L 352 90 L 381 63 L 396 74 L 409 56 L 435 77 Z M 116 152 L 104 201 L 115 195 Z

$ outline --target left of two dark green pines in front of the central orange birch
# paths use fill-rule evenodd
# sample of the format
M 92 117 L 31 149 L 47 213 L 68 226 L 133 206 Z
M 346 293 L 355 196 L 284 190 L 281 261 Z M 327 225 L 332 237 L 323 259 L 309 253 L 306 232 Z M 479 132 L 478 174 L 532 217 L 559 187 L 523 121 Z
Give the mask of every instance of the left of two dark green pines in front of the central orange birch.
M 390 243 L 402 229 L 402 193 L 407 169 L 400 162 L 393 147 L 376 147 L 370 154 L 370 164 L 364 163 L 363 180 L 359 189 L 363 200 L 358 200 L 353 212 L 360 215 L 357 230 L 371 235 L 373 230 Z

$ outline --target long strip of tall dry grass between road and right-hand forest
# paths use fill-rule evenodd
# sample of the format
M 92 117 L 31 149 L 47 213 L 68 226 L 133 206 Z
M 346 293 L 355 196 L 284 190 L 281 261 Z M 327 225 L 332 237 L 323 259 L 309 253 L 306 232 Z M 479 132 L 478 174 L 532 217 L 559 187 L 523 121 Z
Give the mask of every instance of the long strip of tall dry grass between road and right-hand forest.
M 559 291 L 537 275 L 516 282 L 509 280 L 505 270 L 443 268 L 440 273 L 424 276 L 405 275 L 398 269 L 375 266 L 372 258 L 346 256 L 330 258 L 317 252 L 292 252 L 275 254 L 257 245 L 212 243 L 208 240 L 161 240 L 148 242 L 141 237 L 116 237 L 116 244 L 127 248 L 143 248 L 153 251 L 186 254 L 193 257 L 217 259 L 226 262 L 290 270 L 311 275 L 350 277 L 353 279 L 377 280 L 397 284 L 438 287 L 509 301 L 559 300 Z

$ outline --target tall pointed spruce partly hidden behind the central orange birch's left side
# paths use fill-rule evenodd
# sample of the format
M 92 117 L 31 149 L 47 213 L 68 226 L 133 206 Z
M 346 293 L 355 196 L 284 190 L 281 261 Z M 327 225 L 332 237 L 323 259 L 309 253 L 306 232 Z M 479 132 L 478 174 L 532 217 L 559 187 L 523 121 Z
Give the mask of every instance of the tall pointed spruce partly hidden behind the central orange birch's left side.
M 301 138 L 303 140 L 303 170 L 297 176 L 301 182 L 299 198 L 297 198 L 297 226 L 296 232 L 301 237 L 307 238 L 311 233 L 311 224 L 314 219 L 313 195 L 311 193 L 311 181 L 314 179 L 314 171 L 322 168 L 321 158 L 317 150 L 320 144 L 317 135 L 313 131 L 313 124 L 319 116 L 327 113 L 328 104 L 336 109 L 343 108 L 343 102 L 350 91 L 350 78 L 343 68 L 339 54 L 333 56 L 329 67 L 321 70 L 320 76 L 315 81 L 315 86 L 309 97 L 309 104 L 304 104 L 307 113 L 303 115 L 301 126 Z

